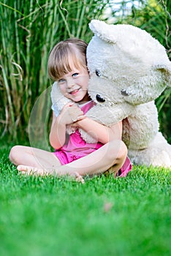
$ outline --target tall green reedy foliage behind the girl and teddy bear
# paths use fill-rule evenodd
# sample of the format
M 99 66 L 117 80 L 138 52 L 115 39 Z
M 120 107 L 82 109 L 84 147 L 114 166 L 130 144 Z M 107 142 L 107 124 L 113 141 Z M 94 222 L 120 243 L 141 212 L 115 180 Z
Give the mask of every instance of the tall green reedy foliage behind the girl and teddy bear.
M 110 11 L 110 12 L 109 12 Z M 26 140 L 31 109 L 50 86 L 47 57 L 56 42 L 92 37 L 91 19 L 130 23 L 150 32 L 171 57 L 171 2 L 167 0 L 4 0 L 0 2 L 0 136 Z M 156 100 L 161 131 L 171 143 L 170 89 Z M 42 120 L 49 98 L 41 102 Z M 37 118 L 40 118 L 37 113 Z

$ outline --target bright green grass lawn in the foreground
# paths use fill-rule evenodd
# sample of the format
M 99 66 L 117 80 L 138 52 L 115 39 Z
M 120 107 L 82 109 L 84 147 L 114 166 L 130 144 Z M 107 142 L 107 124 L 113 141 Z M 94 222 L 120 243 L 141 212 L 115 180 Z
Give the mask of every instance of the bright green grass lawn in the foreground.
M 170 255 L 169 170 L 80 184 L 20 176 L 8 153 L 1 148 L 0 255 Z

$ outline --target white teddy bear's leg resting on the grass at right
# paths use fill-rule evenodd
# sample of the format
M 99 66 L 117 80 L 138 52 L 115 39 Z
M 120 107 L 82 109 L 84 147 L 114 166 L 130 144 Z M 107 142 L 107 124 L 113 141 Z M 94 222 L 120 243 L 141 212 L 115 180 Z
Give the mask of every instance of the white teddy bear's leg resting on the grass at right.
M 129 157 L 135 165 L 153 165 L 171 169 L 171 145 L 167 143 L 161 132 L 156 134 L 148 148 L 129 149 Z

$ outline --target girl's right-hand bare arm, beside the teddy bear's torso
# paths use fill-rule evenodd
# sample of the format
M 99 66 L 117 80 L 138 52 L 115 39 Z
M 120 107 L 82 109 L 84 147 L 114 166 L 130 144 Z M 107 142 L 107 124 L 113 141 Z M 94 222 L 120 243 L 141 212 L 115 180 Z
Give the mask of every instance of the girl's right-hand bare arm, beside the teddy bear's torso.
M 95 138 L 96 141 L 103 144 L 108 143 L 111 140 L 121 140 L 122 138 L 122 121 L 117 124 L 113 124 L 111 127 L 107 127 L 86 117 L 77 121 L 77 127 L 88 132 L 88 134 Z

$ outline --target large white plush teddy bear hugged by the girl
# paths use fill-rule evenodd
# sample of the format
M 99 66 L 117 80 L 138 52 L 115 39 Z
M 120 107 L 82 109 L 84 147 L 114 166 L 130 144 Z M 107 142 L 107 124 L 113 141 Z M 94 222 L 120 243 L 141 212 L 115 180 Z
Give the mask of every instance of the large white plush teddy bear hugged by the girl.
M 131 25 L 91 20 L 94 37 L 88 44 L 88 94 L 96 105 L 86 116 L 110 126 L 123 120 L 123 141 L 136 165 L 171 167 L 171 146 L 159 132 L 154 99 L 171 84 L 171 62 L 150 34 Z M 53 84 L 56 115 L 68 102 Z M 70 130 L 68 127 L 68 132 Z M 80 130 L 84 140 L 93 143 Z

